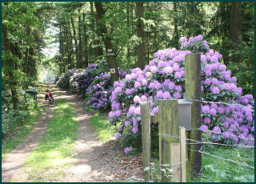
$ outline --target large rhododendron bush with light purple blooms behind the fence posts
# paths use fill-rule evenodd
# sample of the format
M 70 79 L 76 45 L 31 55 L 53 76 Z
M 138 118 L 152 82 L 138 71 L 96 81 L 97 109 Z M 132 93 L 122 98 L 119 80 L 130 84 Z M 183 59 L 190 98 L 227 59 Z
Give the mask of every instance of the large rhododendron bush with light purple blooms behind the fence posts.
M 180 38 L 180 42 L 182 50 L 158 50 L 144 70 L 135 68 L 114 82 L 109 118 L 118 125 L 116 138 L 122 141 L 125 152 L 141 146 L 140 102 L 150 101 L 151 113 L 157 114 L 159 99 L 185 98 L 185 55 L 190 50 L 202 51 L 201 95 L 207 101 L 202 102 L 202 132 L 213 142 L 254 145 L 253 96 L 242 96 L 237 79 L 222 64 L 222 55 L 211 50 L 202 35 L 189 40 Z M 229 105 L 234 103 L 242 106 Z M 157 126 L 152 126 L 157 134 Z

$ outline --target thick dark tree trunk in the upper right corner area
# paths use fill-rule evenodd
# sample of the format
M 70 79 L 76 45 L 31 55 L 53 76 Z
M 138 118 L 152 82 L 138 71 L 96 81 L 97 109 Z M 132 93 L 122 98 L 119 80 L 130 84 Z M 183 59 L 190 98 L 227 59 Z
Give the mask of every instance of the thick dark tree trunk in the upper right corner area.
M 238 39 L 242 35 L 242 17 L 241 17 L 241 4 L 242 2 L 232 2 L 230 13 L 230 38 L 233 42 L 233 49 L 238 50 Z M 240 57 L 238 54 L 233 54 L 232 61 L 239 62 Z

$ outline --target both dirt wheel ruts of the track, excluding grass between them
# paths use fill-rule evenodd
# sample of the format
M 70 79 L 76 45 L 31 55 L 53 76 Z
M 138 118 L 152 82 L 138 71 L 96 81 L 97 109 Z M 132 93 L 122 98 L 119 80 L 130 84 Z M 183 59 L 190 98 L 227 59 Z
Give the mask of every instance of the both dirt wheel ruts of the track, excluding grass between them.
M 126 157 L 114 140 L 100 142 L 90 125 L 92 114 L 86 112 L 83 98 L 70 94 L 56 86 L 58 98 L 66 98 L 74 105 L 76 120 L 79 123 L 78 140 L 75 142 L 75 162 L 65 170 L 65 177 L 56 181 L 45 182 L 127 182 L 139 181 L 142 178 L 142 159 Z M 54 106 L 50 114 L 42 114 L 34 130 L 25 138 L 20 146 L 7 154 L 2 162 L 2 182 L 30 182 L 22 171 L 25 158 L 34 150 L 46 133 L 46 127 L 53 116 Z M 128 178 L 132 177 L 130 180 Z

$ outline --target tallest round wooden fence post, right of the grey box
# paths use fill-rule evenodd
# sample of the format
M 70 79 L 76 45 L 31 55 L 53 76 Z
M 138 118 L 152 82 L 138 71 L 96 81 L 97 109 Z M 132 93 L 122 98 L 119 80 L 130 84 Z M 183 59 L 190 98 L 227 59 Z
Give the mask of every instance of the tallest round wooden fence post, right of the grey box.
M 201 96 L 201 61 L 200 54 L 192 53 L 185 56 L 185 87 L 186 98 L 200 100 Z M 201 103 L 192 101 L 190 139 L 201 141 L 201 131 L 196 130 L 201 125 Z M 190 145 L 191 150 L 200 150 L 200 144 Z M 200 173 L 202 155 L 198 151 L 188 151 L 187 172 L 191 177 Z

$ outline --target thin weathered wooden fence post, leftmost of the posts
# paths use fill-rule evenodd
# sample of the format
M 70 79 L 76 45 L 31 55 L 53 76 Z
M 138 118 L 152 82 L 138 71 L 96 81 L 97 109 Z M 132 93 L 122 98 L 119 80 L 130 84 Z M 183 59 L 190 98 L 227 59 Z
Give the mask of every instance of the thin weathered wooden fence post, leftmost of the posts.
M 151 131 L 150 131 L 150 102 L 141 104 L 142 118 L 142 161 L 143 169 L 150 168 Z M 145 182 L 150 181 L 150 170 L 144 171 Z

